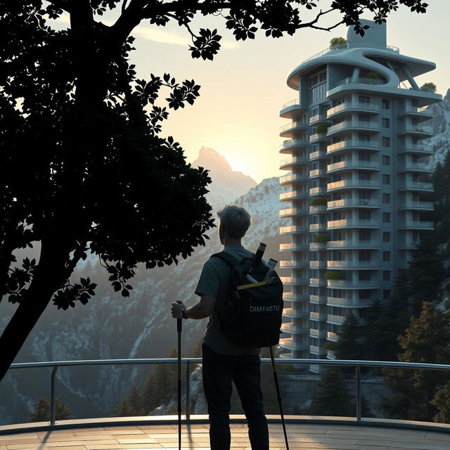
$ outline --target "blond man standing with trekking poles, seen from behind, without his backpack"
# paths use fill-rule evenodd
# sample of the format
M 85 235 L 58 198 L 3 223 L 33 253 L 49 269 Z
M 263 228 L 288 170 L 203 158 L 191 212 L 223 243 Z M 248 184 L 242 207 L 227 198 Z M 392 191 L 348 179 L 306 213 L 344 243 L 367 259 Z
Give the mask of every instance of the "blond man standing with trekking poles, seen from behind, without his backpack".
M 252 259 L 252 252 L 240 242 L 250 226 L 249 212 L 238 205 L 227 205 L 217 215 L 220 219 L 219 239 L 224 245 L 224 252 L 239 261 Z M 230 272 L 229 264 L 223 259 L 208 259 L 195 289 L 200 301 L 190 308 L 181 300 L 172 303 L 172 317 L 210 318 L 203 338 L 203 388 L 210 416 L 211 450 L 230 449 L 232 382 L 238 390 L 248 421 L 252 450 L 269 450 L 269 430 L 261 392 L 260 349 L 238 347 L 231 342 L 221 329 L 217 316 L 217 305 L 227 301 Z

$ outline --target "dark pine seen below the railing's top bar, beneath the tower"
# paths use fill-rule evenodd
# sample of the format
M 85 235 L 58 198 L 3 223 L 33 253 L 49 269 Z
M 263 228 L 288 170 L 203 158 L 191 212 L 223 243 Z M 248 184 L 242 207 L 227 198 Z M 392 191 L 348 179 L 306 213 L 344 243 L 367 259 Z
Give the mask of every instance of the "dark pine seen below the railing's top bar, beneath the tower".
M 311 397 L 308 413 L 314 416 L 354 416 L 356 406 L 338 368 L 326 368 Z

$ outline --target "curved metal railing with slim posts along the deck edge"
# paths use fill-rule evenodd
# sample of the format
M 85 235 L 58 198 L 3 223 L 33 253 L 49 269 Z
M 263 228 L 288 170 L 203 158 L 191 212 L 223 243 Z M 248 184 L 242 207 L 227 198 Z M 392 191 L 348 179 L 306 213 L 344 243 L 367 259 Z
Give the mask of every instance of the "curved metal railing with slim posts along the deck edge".
M 306 314 L 306 313 L 305 313 Z M 311 313 L 312 314 L 312 313 Z M 319 313 L 317 313 L 319 314 Z M 342 321 L 340 316 L 327 317 L 328 320 Z M 286 342 L 282 342 L 286 341 Z M 281 345 L 289 346 L 294 345 L 295 342 L 286 339 L 282 340 Z M 288 342 L 290 341 L 290 342 Z M 18 363 L 11 364 L 11 370 L 29 369 L 29 368 L 51 368 L 50 377 L 50 425 L 56 427 L 56 373 L 60 367 L 73 367 L 73 366 L 117 366 L 117 365 L 148 365 L 148 364 L 176 364 L 176 358 L 162 358 L 162 359 L 91 359 L 81 361 L 46 361 L 35 363 Z M 270 364 L 269 358 L 263 358 L 262 364 Z M 191 365 L 201 364 L 201 358 L 182 358 L 181 363 L 186 365 L 186 390 L 185 390 L 185 408 L 186 408 L 186 421 L 191 420 Z M 277 364 L 295 364 L 298 366 L 347 366 L 354 367 L 355 370 L 355 392 L 356 392 L 356 411 L 355 418 L 361 421 L 361 368 L 409 368 L 409 369 L 424 369 L 435 371 L 450 371 L 450 364 L 423 364 L 423 363 L 405 363 L 394 361 L 359 361 L 359 360 L 338 360 L 338 359 L 295 359 L 295 358 L 283 358 L 276 359 Z

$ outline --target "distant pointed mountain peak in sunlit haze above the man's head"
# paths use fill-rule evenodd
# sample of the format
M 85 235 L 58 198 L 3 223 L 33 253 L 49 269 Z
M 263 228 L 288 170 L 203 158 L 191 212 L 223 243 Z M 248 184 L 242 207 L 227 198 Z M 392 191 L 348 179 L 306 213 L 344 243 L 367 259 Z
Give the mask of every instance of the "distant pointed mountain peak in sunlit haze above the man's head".
M 205 167 L 210 171 L 212 183 L 206 198 L 213 211 L 257 185 L 257 182 L 250 176 L 231 169 L 228 161 L 214 148 L 200 148 L 198 158 L 192 162 L 192 166 Z

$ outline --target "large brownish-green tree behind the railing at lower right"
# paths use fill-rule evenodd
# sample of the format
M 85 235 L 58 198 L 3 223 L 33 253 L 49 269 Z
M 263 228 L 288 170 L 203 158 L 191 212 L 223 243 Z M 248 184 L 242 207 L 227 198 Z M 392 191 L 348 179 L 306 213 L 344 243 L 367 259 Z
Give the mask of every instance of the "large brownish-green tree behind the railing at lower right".
M 410 327 L 399 336 L 404 350 L 399 361 L 442 364 L 450 358 L 449 342 L 450 314 L 424 302 L 420 316 L 411 318 Z M 383 369 L 383 373 L 392 397 L 383 399 L 382 407 L 390 417 L 429 421 L 437 415 L 432 400 L 439 401 L 436 394 L 450 381 L 448 373 L 404 368 Z

